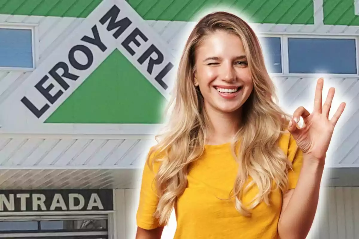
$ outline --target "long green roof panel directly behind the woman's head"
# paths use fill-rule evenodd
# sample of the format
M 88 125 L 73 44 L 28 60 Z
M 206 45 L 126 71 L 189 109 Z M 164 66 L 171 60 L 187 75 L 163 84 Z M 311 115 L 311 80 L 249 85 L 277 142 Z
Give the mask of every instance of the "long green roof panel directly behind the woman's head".
M 198 13 L 235 9 L 255 23 L 313 24 L 313 0 L 129 0 L 145 20 L 196 21 Z M 289 11 L 288 11 L 289 10 Z

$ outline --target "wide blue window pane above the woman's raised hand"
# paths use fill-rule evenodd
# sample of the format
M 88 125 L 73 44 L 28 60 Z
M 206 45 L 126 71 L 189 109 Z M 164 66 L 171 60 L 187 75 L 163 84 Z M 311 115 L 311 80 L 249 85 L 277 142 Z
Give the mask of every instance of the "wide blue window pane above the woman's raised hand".
M 356 74 L 355 39 L 288 38 L 289 73 Z

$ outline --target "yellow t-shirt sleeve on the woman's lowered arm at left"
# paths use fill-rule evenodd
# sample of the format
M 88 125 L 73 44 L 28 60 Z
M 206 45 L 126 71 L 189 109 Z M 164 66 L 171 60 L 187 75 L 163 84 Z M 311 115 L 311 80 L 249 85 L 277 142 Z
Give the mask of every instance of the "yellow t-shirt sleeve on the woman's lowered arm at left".
M 149 157 L 150 165 L 152 165 L 155 154 L 152 153 Z M 143 229 L 155 229 L 160 226 L 158 219 L 154 217 L 159 201 L 154 183 L 155 173 L 157 173 L 158 168 L 159 162 L 154 163 L 153 170 L 145 162 L 143 169 L 140 200 L 136 214 L 137 226 Z

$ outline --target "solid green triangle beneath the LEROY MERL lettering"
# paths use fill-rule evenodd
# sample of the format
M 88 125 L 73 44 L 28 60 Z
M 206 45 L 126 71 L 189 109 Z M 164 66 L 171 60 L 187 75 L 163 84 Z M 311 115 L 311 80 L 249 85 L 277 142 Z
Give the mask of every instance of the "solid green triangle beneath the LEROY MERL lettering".
M 165 100 L 115 49 L 45 123 L 158 124 Z

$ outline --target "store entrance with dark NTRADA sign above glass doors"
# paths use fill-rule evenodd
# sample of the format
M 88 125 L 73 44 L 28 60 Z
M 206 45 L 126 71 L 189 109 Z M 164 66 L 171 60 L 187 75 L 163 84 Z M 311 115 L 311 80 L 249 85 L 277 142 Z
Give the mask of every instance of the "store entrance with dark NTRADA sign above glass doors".
M 0 238 L 108 239 L 113 228 L 112 190 L 4 190 L 0 197 L 0 211 L 12 212 Z

